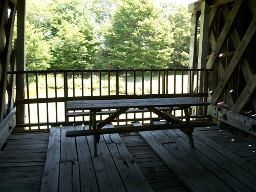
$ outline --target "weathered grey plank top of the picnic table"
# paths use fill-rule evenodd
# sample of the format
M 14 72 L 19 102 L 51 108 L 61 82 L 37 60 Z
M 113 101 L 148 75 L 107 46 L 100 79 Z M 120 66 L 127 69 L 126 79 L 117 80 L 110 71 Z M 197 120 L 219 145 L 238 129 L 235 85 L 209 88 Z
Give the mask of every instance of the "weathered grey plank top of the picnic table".
M 193 97 L 152 98 L 152 99 L 116 99 L 116 100 L 74 100 L 67 101 L 68 110 L 102 110 L 120 108 L 146 108 L 147 106 L 200 106 L 208 102 Z

